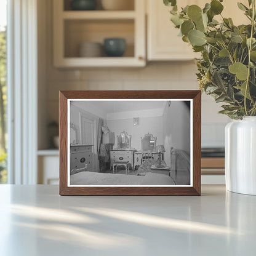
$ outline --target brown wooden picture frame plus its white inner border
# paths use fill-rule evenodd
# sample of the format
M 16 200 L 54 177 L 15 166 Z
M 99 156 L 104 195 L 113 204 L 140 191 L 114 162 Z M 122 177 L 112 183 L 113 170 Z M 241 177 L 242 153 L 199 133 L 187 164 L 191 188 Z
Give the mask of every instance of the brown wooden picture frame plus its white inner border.
M 148 90 L 148 91 L 60 91 L 60 195 L 116 195 L 116 196 L 200 196 L 201 195 L 201 91 Z M 73 185 L 70 183 L 70 103 L 75 101 L 158 101 L 172 108 L 173 102 L 184 102 L 190 111 L 190 182 L 188 185 Z M 170 103 L 171 102 L 171 103 Z M 190 102 L 190 103 L 188 103 Z M 188 104 L 187 104 L 188 103 Z M 165 104 L 165 103 L 164 103 Z M 188 106 L 189 105 L 189 106 Z M 137 116 L 136 116 L 137 117 Z M 177 118 L 180 118 L 177 116 Z M 169 122 L 169 121 L 168 121 Z M 174 120 L 175 122 L 175 120 Z M 136 126 L 137 127 L 137 126 Z M 122 131 L 121 131 L 122 132 Z M 148 130 L 145 130 L 146 134 Z M 115 134 L 116 135 L 116 134 Z M 164 136 L 163 136 L 164 137 Z M 164 140 L 164 139 L 162 139 Z M 163 142 L 162 142 L 163 143 Z M 169 145 L 169 144 L 168 144 Z M 95 145 L 96 146 L 96 145 Z M 160 147 L 161 148 L 161 147 Z M 168 149 L 169 150 L 169 149 Z M 172 149 L 171 149 L 172 150 Z M 172 157 L 172 154 L 171 156 Z M 73 170 L 72 170 L 73 171 Z M 83 175 L 89 172 L 81 172 Z M 177 169 L 170 175 L 177 176 Z M 75 174 L 77 175 L 77 174 Z M 114 174 L 121 175 L 121 174 Z M 149 175 L 149 174 L 146 174 Z M 152 174 L 153 175 L 153 174 Z M 124 177 L 124 175 L 122 176 Z M 135 176 L 134 178 L 136 178 Z M 166 176 L 165 176 L 166 177 Z M 147 183 L 146 183 L 147 184 Z

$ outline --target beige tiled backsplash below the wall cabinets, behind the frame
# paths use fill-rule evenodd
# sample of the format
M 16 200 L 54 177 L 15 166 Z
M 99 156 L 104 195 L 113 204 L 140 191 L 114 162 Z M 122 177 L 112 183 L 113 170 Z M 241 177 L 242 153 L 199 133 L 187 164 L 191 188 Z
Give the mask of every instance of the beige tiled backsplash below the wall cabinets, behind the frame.
M 193 90 L 198 89 L 194 62 L 150 63 L 145 68 L 91 68 L 47 73 L 48 116 L 58 119 L 58 90 Z M 125 94 L 125 92 L 124 92 Z M 220 104 L 202 95 L 202 146 L 224 146 L 229 119 L 218 114 Z

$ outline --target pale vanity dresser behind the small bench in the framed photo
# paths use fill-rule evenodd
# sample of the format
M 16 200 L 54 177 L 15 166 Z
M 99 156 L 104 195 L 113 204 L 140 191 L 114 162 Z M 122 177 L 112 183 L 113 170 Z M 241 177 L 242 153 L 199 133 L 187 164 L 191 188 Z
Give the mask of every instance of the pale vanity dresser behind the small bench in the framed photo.
M 114 162 L 129 162 L 129 168 L 134 170 L 134 152 L 136 150 L 110 150 L 110 169 Z

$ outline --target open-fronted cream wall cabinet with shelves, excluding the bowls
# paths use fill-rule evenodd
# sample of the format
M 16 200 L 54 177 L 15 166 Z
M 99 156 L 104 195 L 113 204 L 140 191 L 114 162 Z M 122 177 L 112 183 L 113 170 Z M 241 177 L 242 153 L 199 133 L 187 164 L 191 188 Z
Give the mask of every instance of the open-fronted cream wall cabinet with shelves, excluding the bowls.
M 128 1 L 128 0 L 127 0 Z M 145 1 L 134 1 L 134 10 L 70 10 L 64 0 L 54 0 L 54 66 L 145 66 Z M 79 57 L 79 44 L 105 38 L 126 39 L 123 57 Z

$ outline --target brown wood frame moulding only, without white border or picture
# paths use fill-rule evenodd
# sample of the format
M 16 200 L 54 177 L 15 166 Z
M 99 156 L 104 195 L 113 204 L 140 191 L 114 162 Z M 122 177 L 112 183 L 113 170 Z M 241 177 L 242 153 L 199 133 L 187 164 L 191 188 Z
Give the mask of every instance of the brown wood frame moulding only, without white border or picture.
M 193 186 L 68 187 L 68 99 L 193 99 Z M 78 90 L 60 92 L 60 194 L 114 196 L 200 196 L 201 195 L 201 91 L 199 90 Z

